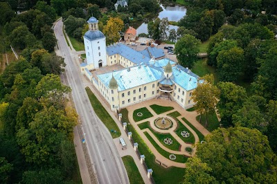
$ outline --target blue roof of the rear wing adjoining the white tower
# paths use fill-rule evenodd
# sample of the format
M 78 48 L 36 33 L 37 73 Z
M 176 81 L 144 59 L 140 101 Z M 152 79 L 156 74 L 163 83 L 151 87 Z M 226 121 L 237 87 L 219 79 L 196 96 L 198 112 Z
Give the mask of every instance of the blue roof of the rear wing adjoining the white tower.
M 111 46 L 107 46 L 107 55 L 122 55 L 129 61 L 133 62 L 134 64 L 148 63 L 150 61 L 150 57 L 146 57 L 142 53 L 129 48 L 129 46 L 125 46 L 124 44 L 112 44 Z

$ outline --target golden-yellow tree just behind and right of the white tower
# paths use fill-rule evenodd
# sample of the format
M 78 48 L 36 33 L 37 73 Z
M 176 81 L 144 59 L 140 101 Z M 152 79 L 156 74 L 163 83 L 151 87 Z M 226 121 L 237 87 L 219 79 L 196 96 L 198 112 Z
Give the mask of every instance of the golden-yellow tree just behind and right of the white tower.
M 110 17 L 107 25 L 104 26 L 103 33 L 107 38 L 107 44 L 118 42 L 120 39 L 119 32 L 123 29 L 123 21 L 118 17 Z

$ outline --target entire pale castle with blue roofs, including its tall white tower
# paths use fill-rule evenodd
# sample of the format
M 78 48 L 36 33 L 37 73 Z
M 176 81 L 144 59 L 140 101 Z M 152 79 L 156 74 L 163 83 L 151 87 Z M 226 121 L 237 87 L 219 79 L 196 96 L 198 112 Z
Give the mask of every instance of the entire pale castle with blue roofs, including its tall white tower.
M 184 109 L 193 107 L 191 95 L 198 76 L 188 68 L 165 58 L 163 49 L 149 46 L 136 51 L 125 44 L 106 46 L 105 35 L 98 30 L 98 20 L 91 17 L 84 34 L 87 60 L 80 65 L 82 73 L 110 104 L 112 110 L 152 98 L 167 98 Z M 94 76 L 91 71 L 120 64 L 119 71 Z

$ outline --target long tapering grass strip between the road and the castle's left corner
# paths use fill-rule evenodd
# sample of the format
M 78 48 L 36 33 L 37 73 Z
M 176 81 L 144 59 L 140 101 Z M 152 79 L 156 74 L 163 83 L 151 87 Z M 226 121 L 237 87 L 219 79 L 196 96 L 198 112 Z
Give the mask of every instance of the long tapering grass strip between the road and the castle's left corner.
M 91 101 L 91 106 L 93 107 L 93 110 L 95 111 L 97 116 L 100 118 L 100 120 L 105 124 L 105 126 L 109 130 L 112 129 L 116 131 L 116 133 L 111 132 L 112 138 L 118 138 L 121 135 L 121 133 L 120 133 L 120 130 L 118 129 L 118 126 L 116 125 L 116 122 L 114 122 L 113 118 L 109 116 L 109 113 L 106 111 L 106 109 L 102 107 L 102 104 L 92 93 L 91 89 L 87 87 L 86 91 L 87 91 L 87 95 L 89 96 L 89 100 Z

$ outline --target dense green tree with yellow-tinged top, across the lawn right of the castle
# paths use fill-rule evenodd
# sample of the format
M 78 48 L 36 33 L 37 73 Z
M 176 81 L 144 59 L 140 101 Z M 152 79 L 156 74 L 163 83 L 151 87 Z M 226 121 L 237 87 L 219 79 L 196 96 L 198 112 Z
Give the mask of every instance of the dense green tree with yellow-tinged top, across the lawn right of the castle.
M 244 50 L 233 47 L 222 50 L 217 56 L 217 72 L 221 81 L 235 82 L 244 68 Z

